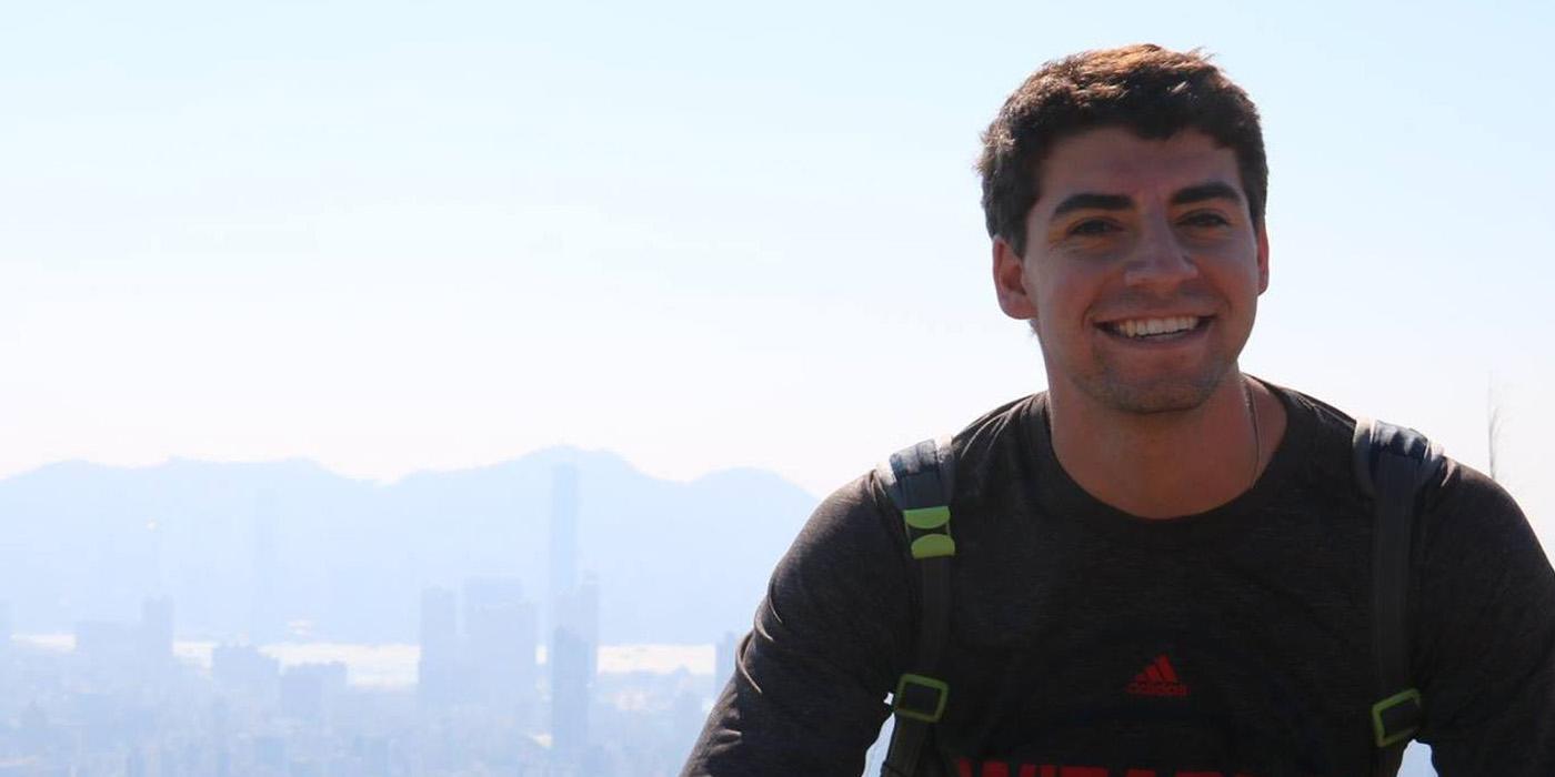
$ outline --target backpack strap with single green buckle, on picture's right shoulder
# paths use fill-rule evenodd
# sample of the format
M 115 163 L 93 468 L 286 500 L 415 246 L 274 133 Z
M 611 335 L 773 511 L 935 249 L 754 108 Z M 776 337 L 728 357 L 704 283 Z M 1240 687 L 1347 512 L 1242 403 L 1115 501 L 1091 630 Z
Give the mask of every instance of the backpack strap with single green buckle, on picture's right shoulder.
M 1420 729 L 1424 712 L 1424 699 L 1410 684 L 1409 558 L 1418 496 L 1440 477 L 1445 463 L 1441 448 L 1413 429 L 1365 418 L 1356 421 L 1356 482 L 1375 505 L 1372 656 L 1378 701 L 1372 704 L 1372 735 L 1378 777 L 1398 774 L 1404 747 Z

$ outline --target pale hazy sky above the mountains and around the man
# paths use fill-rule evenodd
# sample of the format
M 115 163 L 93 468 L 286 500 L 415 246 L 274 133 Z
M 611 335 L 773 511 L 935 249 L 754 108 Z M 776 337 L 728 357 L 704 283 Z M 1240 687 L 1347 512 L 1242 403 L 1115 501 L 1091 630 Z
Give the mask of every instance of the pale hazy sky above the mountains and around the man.
M 821 494 L 1039 390 L 972 160 L 1040 62 L 1258 101 L 1242 365 L 1487 466 L 1555 544 L 1549 3 L 12 3 L 0 476 L 571 443 Z

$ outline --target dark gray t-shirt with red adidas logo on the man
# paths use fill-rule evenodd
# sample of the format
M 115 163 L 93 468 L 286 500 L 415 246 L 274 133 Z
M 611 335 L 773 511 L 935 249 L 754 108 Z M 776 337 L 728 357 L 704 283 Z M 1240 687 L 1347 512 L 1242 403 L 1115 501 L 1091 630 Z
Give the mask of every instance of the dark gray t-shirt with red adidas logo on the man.
M 1354 421 L 1297 392 L 1256 485 L 1144 521 L 1059 466 L 1034 395 L 955 437 L 942 763 L 964 775 L 1362 775 L 1373 744 L 1372 511 Z M 1417 516 L 1417 735 L 1445 777 L 1555 775 L 1555 572 L 1449 462 Z M 874 476 L 778 564 L 683 775 L 857 775 L 914 656 L 917 577 Z

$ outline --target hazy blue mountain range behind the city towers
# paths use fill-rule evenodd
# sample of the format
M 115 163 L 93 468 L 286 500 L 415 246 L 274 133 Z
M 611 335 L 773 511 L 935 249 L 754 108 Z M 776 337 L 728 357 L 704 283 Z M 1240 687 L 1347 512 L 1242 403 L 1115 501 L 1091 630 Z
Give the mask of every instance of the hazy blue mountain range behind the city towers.
M 578 472 L 580 570 L 599 577 L 611 643 L 748 628 L 816 502 L 770 472 L 678 483 L 572 448 L 392 485 L 300 460 L 59 463 L 0 480 L 0 600 L 14 631 L 68 631 L 134 620 L 160 591 L 179 634 L 258 640 L 414 642 L 421 589 L 479 575 L 518 575 L 544 611 L 563 463 Z

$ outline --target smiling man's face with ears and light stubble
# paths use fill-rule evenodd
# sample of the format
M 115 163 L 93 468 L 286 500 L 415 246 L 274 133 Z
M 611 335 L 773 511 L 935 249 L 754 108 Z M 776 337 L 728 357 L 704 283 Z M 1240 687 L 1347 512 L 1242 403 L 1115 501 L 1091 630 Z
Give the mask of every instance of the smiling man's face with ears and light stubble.
M 1048 384 L 1135 413 L 1197 407 L 1236 365 L 1269 284 L 1236 154 L 1197 131 L 1054 145 L 1026 250 L 994 242 L 1000 308 L 1033 322 Z

